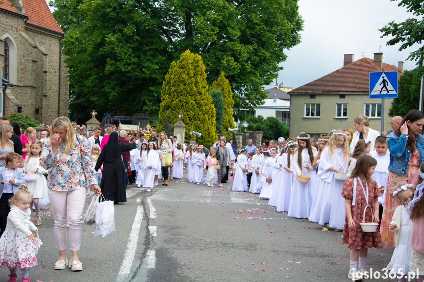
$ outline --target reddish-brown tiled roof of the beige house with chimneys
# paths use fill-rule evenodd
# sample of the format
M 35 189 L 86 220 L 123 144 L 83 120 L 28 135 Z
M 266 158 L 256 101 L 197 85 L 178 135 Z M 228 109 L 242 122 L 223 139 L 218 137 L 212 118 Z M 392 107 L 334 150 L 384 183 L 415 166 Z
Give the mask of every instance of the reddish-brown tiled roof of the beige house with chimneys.
M 383 68 L 381 69 L 374 64 L 372 59 L 362 58 L 326 76 L 295 88 L 288 94 L 368 93 L 369 73 L 383 71 L 397 71 L 397 67 L 383 63 Z M 401 74 L 398 72 L 397 79 L 400 79 L 400 76 Z

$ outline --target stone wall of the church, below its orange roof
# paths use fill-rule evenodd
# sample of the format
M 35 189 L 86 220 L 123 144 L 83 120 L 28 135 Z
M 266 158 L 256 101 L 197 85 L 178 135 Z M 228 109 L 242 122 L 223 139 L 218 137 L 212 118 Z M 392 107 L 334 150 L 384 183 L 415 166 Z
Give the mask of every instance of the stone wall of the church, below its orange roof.
M 37 118 L 40 123 L 51 124 L 57 118 L 58 85 L 59 85 L 59 48 L 60 35 L 49 34 L 37 27 L 26 26 L 24 18 L 0 11 L 0 35 L 9 34 L 17 48 L 17 84 L 11 88 L 11 94 L 22 106 L 22 113 Z M 39 48 L 32 47 L 22 36 L 26 33 Z M 0 42 L 0 54 L 3 54 L 3 43 Z M 60 79 L 60 115 L 68 115 L 68 70 L 61 56 Z M 4 56 L 0 55 L 0 71 L 3 72 Z M 35 116 L 35 109 L 39 114 Z M 17 112 L 17 106 L 6 98 L 5 115 Z

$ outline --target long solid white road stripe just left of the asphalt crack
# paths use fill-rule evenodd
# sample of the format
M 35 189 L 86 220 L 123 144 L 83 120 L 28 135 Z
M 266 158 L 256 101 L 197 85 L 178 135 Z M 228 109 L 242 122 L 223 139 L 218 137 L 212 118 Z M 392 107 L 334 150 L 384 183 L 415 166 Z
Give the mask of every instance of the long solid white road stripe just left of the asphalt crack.
M 143 207 L 139 205 L 141 203 L 140 199 L 137 199 L 137 212 L 134 218 L 133 227 L 131 228 L 130 236 L 128 238 L 127 248 L 124 253 L 124 258 L 122 259 L 121 267 L 118 272 L 118 281 L 125 279 L 131 270 L 131 265 L 133 264 L 134 256 L 136 254 L 137 242 L 140 236 L 140 227 L 141 221 L 143 219 Z

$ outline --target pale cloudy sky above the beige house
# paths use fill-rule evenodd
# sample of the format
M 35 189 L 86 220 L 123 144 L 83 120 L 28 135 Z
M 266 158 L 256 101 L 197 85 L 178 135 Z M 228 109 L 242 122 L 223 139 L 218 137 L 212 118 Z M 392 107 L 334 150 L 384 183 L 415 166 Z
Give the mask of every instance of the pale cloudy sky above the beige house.
M 48 3 L 49 0 L 46 0 Z M 379 28 L 391 21 L 400 23 L 413 17 L 399 0 L 299 0 L 299 14 L 304 30 L 301 43 L 285 53 L 287 60 L 281 64 L 277 83 L 296 88 L 323 77 L 343 67 L 343 55 L 354 54 L 373 59 L 375 52 L 383 53 L 383 62 L 395 65 L 403 61 L 404 70 L 415 68 L 415 61 L 407 61 L 411 51 L 419 45 L 398 51 L 400 44 L 386 46 L 391 37 L 380 38 Z M 53 8 L 50 7 L 53 11 Z M 275 80 L 265 89 L 274 87 Z

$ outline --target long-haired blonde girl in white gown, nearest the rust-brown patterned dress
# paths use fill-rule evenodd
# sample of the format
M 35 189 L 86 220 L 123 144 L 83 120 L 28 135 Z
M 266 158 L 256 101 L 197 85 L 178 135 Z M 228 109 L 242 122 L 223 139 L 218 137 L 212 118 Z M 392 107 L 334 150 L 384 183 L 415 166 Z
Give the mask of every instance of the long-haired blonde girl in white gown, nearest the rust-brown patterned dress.
M 317 204 L 310 217 L 311 221 L 321 226 L 329 223 L 336 230 L 343 229 L 346 216 L 344 198 L 341 196 L 344 181 L 334 178 L 336 172 L 342 172 L 341 168 L 347 170 L 350 150 L 346 140 L 346 134 L 336 130 L 321 153 L 317 174 L 322 180 L 319 188 L 321 194 L 317 195 Z

